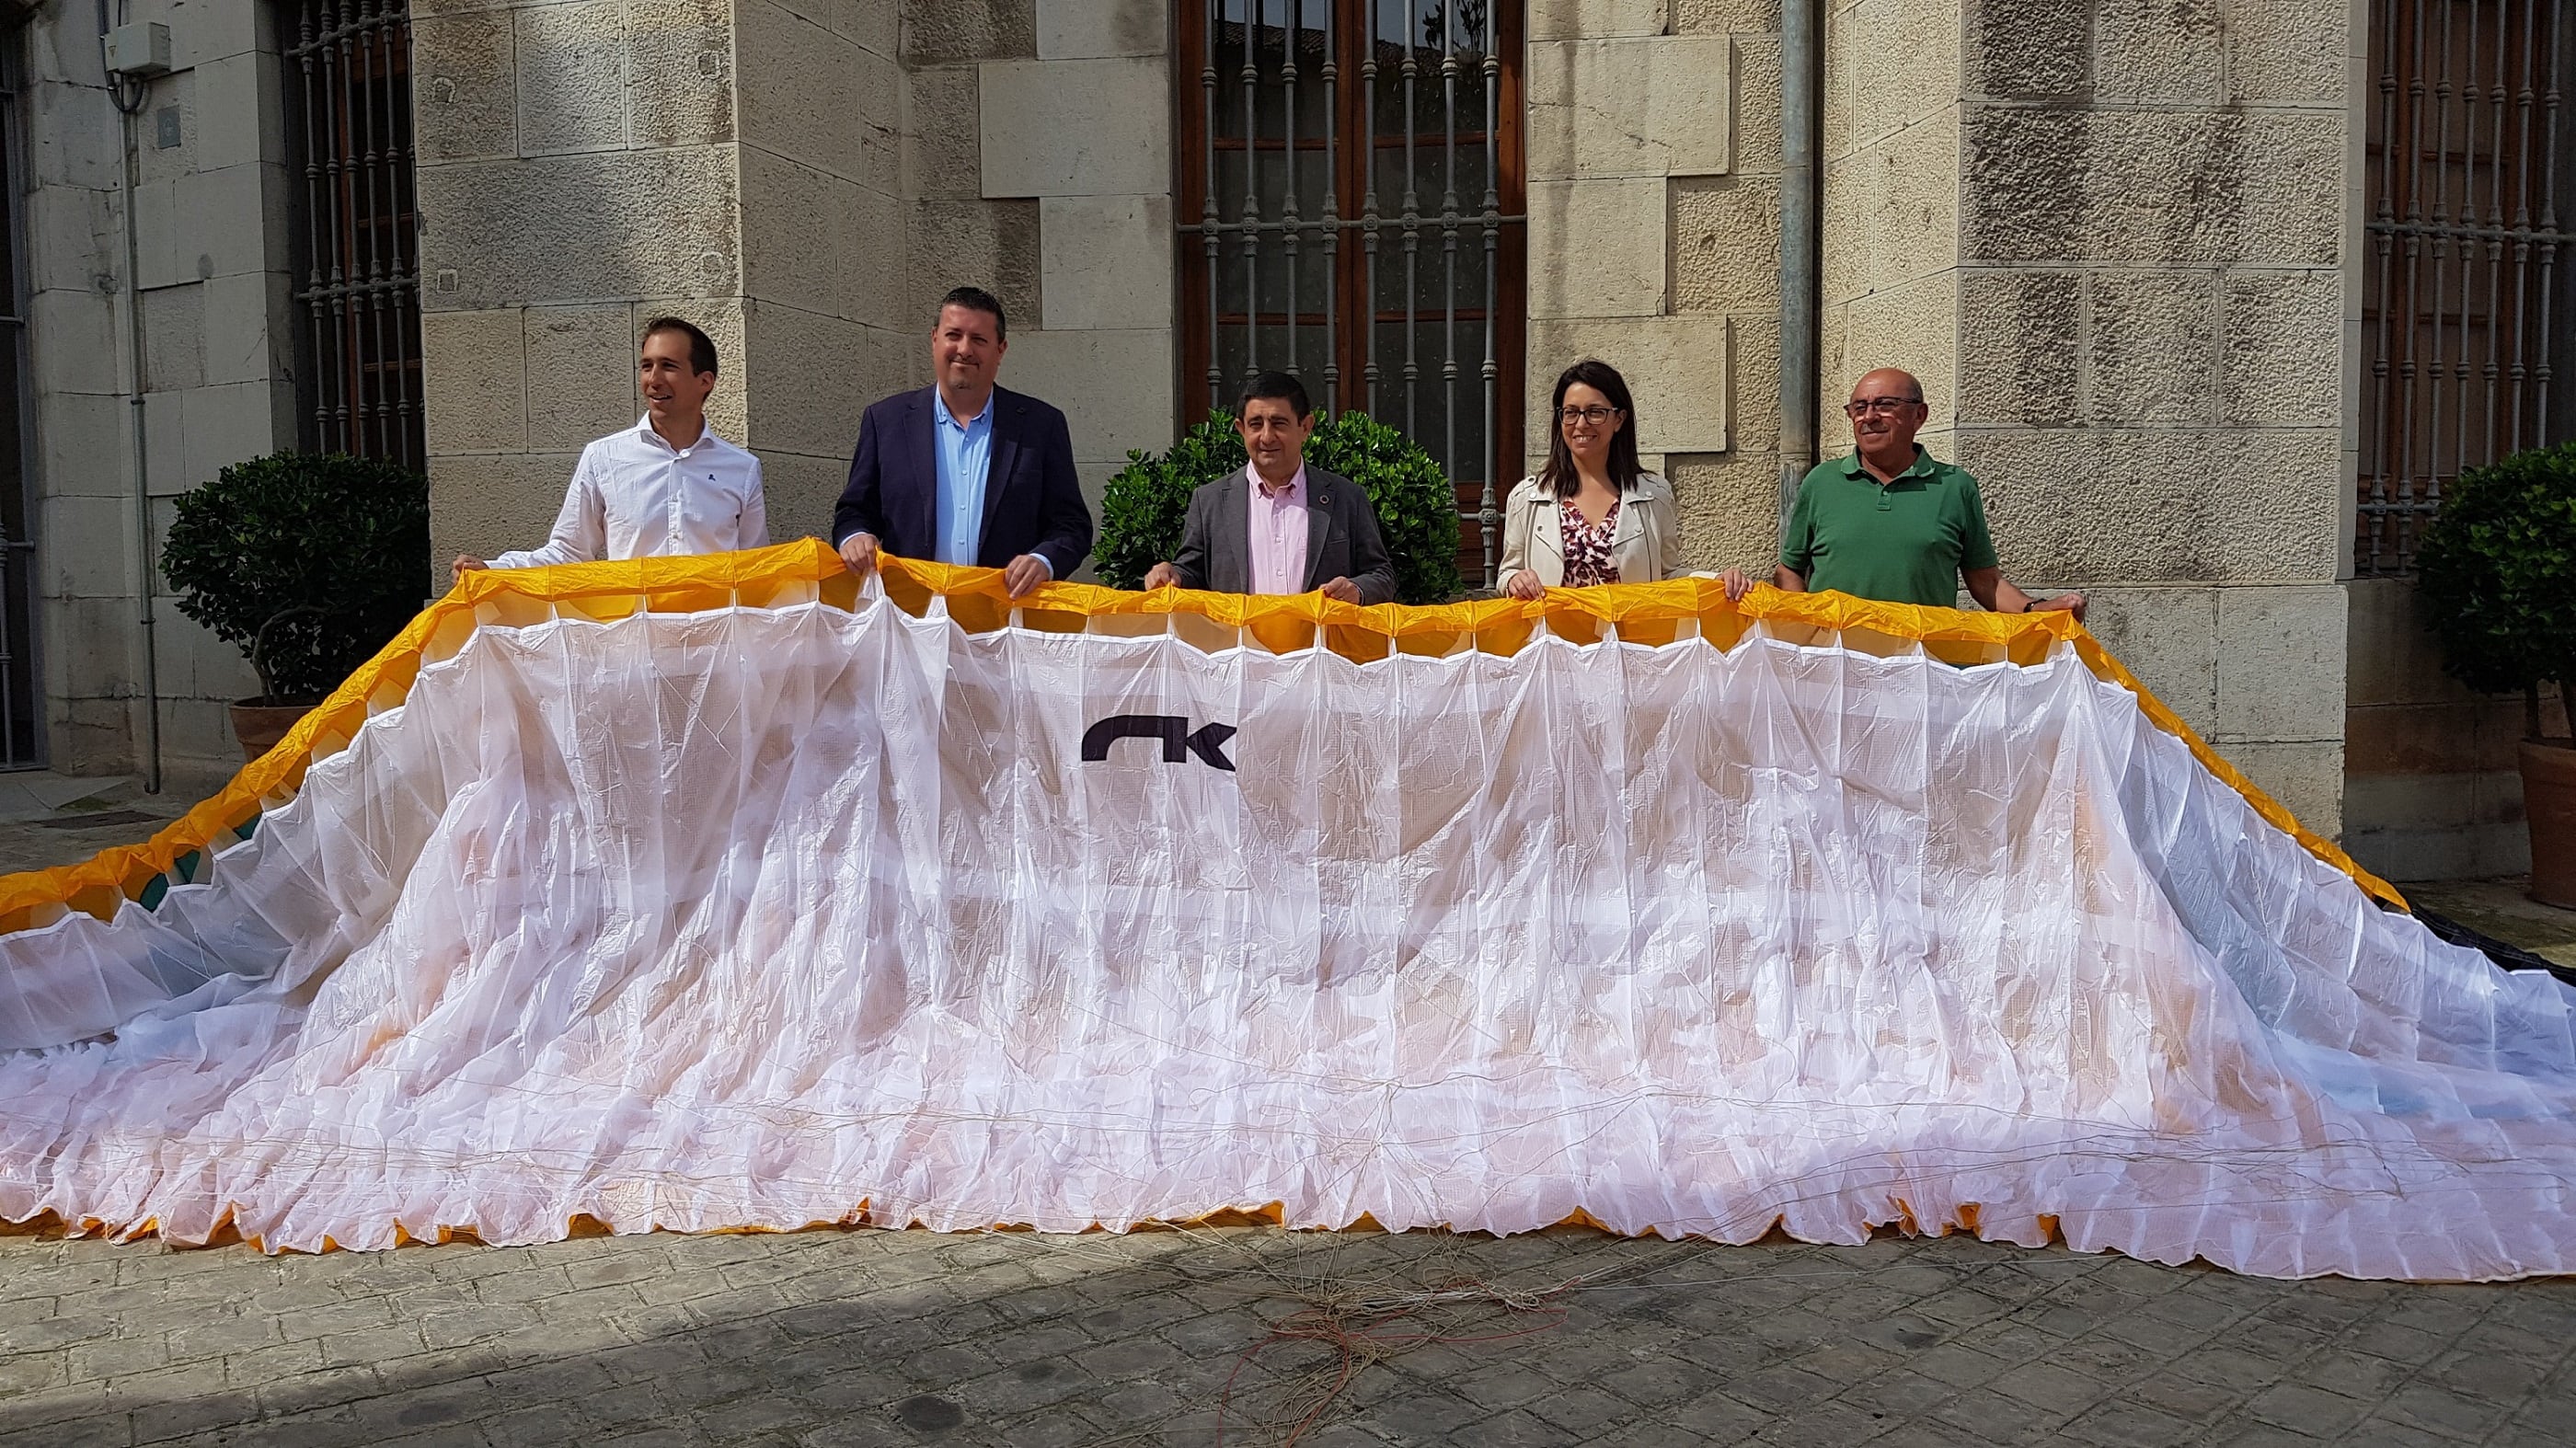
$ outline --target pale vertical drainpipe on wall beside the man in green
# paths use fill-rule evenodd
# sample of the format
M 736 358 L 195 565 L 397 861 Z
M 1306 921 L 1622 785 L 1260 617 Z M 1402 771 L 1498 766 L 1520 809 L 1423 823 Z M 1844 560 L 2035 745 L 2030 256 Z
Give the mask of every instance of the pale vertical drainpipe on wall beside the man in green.
M 1816 466 L 1824 0 L 1780 5 L 1780 528 Z

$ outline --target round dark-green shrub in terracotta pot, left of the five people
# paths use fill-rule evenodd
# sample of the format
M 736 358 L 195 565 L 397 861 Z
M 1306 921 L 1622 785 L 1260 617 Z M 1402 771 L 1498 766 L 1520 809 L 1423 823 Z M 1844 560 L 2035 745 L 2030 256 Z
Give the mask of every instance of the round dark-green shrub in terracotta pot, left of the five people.
M 178 497 L 162 575 L 178 611 L 260 675 L 260 696 L 232 706 L 255 760 L 420 611 L 430 482 L 345 453 L 232 464 Z

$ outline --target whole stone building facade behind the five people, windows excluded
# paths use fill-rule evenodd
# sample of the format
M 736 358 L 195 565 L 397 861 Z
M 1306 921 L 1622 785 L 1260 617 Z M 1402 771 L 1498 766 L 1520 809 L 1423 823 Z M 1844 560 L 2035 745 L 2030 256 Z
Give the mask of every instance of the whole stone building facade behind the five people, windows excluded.
M 1510 319 L 1484 317 L 1515 343 L 1504 407 L 1538 417 L 1566 361 L 1613 361 L 1692 562 L 1762 567 L 1785 461 L 1780 3 L 1494 5 L 1262 0 L 1252 15 L 1298 15 L 1319 57 L 1345 62 L 1363 54 L 1332 52 L 1345 21 L 1378 36 L 1363 46 L 1499 36 L 1510 175 L 1481 214 L 1510 229 L 1494 252 Z M 2087 587 L 2094 631 L 2311 827 L 2401 876 L 2514 868 L 2499 757 L 2519 703 L 2445 685 L 2406 585 L 2354 580 L 2383 5 L 1821 10 L 1826 453 L 1847 448 L 1834 407 L 1852 376 L 1909 366 L 1935 412 L 1924 441 L 1984 479 L 2007 572 Z M 118 363 L 137 291 L 95 15 L 52 3 L 18 23 L 26 487 L 57 768 L 134 768 L 144 739 L 129 394 L 149 417 L 155 526 L 165 497 L 307 433 L 289 15 L 124 3 L 121 21 L 173 36 L 137 121 L 139 384 Z M 1206 204 L 1195 167 L 1226 162 L 1206 147 L 1224 149 L 1213 95 L 1236 59 L 1218 46 L 1247 0 L 1203 15 L 1167 0 L 410 0 L 407 15 L 440 557 L 546 528 L 580 446 L 634 420 L 634 332 L 654 312 L 719 338 L 714 417 L 762 456 L 781 536 L 824 528 L 860 410 L 927 379 L 930 312 L 961 281 L 1010 307 L 1002 376 L 1069 412 L 1095 497 L 1131 448 L 1170 446 L 1203 407 L 1198 335 L 1213 322 L 1226 348 L 1226 301 L 1216 281 L 1190 301 L 1211 232 L 1182 198 Z M 1306 75 L 1345 98 L 1360 82 L 1350 64 Z M 167 111 L 178 144 L 162 144 Z M 1293 167 L 1314 139 L 1291 126 L 1239 147 L 1242 165 L 1262 144 Z M 1386 142 L 1342 144 L 1378 147 L 1376 165 Z M 1329 224 L 1358 237 L 1355 211 Z M 1213 204 L 1206 216 L 1221 222 Z M 1303 224 L 1327 234 L 1311 211 Z M 1360 276 L 1355 258 L 1329 265 Z M 1260 335 L 1257 301 L 1247 317 Z M 1507 484 L 1546 433 L 1502 435 L 1520 443 L 1492 469 Z M 245 670 L 167 603 L 155 629 L 162 752 L 211 768 Z

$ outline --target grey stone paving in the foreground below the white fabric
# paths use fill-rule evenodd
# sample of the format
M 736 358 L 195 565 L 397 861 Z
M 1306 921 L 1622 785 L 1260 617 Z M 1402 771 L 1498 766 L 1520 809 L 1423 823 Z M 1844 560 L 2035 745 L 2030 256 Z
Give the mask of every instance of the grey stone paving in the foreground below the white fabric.
M 1965 1237 L 0 1239 L 0 1443 L 2563 1445 L 2576 1281 Z M 1218 1438 L 1221 1435 L 1221 1438 Z

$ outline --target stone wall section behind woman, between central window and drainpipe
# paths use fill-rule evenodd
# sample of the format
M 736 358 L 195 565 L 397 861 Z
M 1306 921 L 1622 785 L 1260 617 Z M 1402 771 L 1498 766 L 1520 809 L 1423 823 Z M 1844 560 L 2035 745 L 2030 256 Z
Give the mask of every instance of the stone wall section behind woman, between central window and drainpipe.
M 1780 508 L 1780 13 L 1726 0 L 1528 8 L 1528 466 L 1556 374 L 1636 394 L 1692 567 L 1759 567 Z

